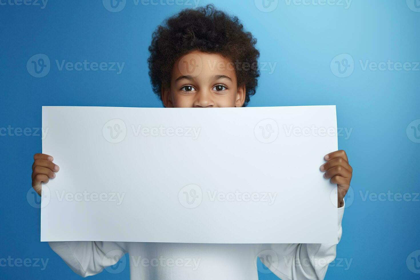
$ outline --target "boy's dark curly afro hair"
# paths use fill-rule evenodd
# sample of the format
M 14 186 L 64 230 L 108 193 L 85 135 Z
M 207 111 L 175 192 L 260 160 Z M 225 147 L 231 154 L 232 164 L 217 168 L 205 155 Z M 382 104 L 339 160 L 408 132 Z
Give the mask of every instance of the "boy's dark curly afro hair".
M 260 52 L 255 44 L 257 39 L 244 30 L 236 16 L 229 16 L 212 4 L 181 10 L 157 26 L 152 34 L 147 63 L 153 92 L 162 100 L 161 88 L 170 86 L 172 68 L 178 58 L 194 50 L 218 53 L 236 65 L 248 65 L 246 70 L 236 67 L 238 86 L 246 87 L 246 106 L 249 97 L 255 94 L 260 76 L 256 66 Z

